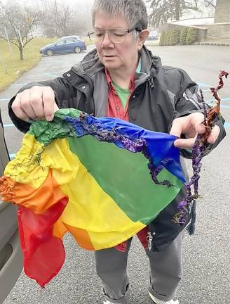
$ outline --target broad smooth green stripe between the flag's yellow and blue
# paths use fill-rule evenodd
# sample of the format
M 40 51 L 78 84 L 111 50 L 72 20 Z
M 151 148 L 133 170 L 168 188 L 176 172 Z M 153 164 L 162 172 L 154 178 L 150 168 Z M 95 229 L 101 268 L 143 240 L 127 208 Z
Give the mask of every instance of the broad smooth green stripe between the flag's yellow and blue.
M 158 175 L 158 180 L 168 179 L 175 186 L 154 184 L 148 161 L 141 153 L 131 153 L 91 136 L 68 140 L 71 151 L 90 175 L 134 222 L 149 224 L 177 196 L 183 185 L 165 169 Z

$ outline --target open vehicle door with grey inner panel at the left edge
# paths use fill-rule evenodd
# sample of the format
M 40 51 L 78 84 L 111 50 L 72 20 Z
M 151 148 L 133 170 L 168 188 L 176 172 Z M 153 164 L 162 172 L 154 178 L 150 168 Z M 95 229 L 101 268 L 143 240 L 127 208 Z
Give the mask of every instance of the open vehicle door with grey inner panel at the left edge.
M 4 174 L 8 160 L 0 113 L 0 176 Z M 16 206 L 4 203 L 0 196 L 0 303 L 3 303 L 22 271 L 16 212 Z

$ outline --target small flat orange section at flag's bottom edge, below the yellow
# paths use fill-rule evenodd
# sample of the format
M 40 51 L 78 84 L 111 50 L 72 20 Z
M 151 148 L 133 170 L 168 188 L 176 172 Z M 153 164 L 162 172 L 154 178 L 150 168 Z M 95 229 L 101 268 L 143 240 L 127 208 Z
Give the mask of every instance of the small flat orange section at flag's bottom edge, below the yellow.
M 95 250 L 95 248 L 93 247 L 93 243 L 91 242 L 90 237 L 85 229 L 72 227 L 68 224 L 65 224 L 65 227 L 67 227 L 72 236 L 74 236 L 74 239 L 81 248 Z

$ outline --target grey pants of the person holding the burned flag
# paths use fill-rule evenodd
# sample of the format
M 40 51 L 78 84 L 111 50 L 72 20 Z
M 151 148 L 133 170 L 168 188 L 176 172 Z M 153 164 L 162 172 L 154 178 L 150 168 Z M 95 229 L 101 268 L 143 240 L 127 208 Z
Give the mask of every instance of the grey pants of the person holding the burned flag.
M 182 239 L 184 231 L 164 251 L 147 250 L 150 264 L 149 291 L 160 300 L 174 298 L 182 276 Z M 102 280 L 104 296 L 111 303 L 126 304 L 129 293 L 127 259 L 131 239 L 126 253 L 115 248 L 95 251 L 97 275 Z

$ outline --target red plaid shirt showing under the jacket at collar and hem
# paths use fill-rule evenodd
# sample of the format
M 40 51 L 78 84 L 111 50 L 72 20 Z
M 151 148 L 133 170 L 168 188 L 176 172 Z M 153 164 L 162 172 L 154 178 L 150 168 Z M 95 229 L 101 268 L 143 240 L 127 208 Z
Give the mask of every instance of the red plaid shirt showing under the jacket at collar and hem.
M 108 103 L 107 103 L 107 116 L 113 117 L 113 118 L 120 118 L 122 120 L 129 121 L 128 118 L 128 103 L 130 96 L 128 98 L 128 101 L 126 103 L 126 108 L 123 108 L 123 105 L 121 103 L 121 99 L 119 98 L 118 94 L 116 94 L 116 91 L 114 89 L 114 85 L 111 81 L 111 77 L 109 75 L 109 71 L 105 69 L 105 75 L 107 77 L 107 84 L 108 84 Z M 133 78 L 130 80 L 130 85 L 128 87 L 130 90 L 130 95 L 133 93 L 135 89 L 135 83 L 134 83 L 134 75 Z M 140 239 L 142 246 L 144 248 L 148 248 L 148 241 L 147 241 L 147 233 L 149 232 L 149 227 L 145 227 L 140 232 L 137 233 L 138 239 Z M 116 249 L 122 252 L 126 251 L 126 245 L 127 241 L 124 241 L 123 243 L 120 243 L 116 246 Z

